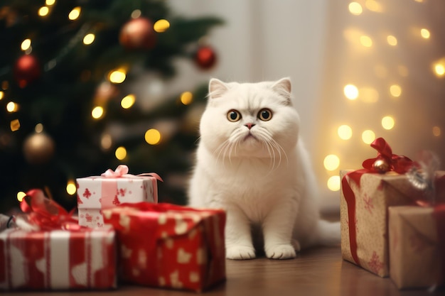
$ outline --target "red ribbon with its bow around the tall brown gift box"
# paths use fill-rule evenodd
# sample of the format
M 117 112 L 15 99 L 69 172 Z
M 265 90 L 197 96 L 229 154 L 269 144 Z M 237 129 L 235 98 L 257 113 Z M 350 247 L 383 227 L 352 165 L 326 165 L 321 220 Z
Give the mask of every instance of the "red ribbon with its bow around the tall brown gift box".
M 374 168 L 376 160 L 383 160 L 388 165 L 387 171 L 403 174 L 413 165 L 413 161 L 406 156 L 392 154 L 392 149 L 384 138 L 376 138 L 371 143 L 371 147 L 377 150 L 377 157 L 363 161 L 363 169 L 348 172 L 341 180 L 343 195 L 348 204 L 348 226 L 349 226 L 349 243 L 350 253 L 355 263 L 360 265 L 357 255 L 357 231 L 355 229 L 355 194 L 350 188 L 348 180 L 353 180 L 360 187 L 360 179 L 365 173 L 382 172 Z

